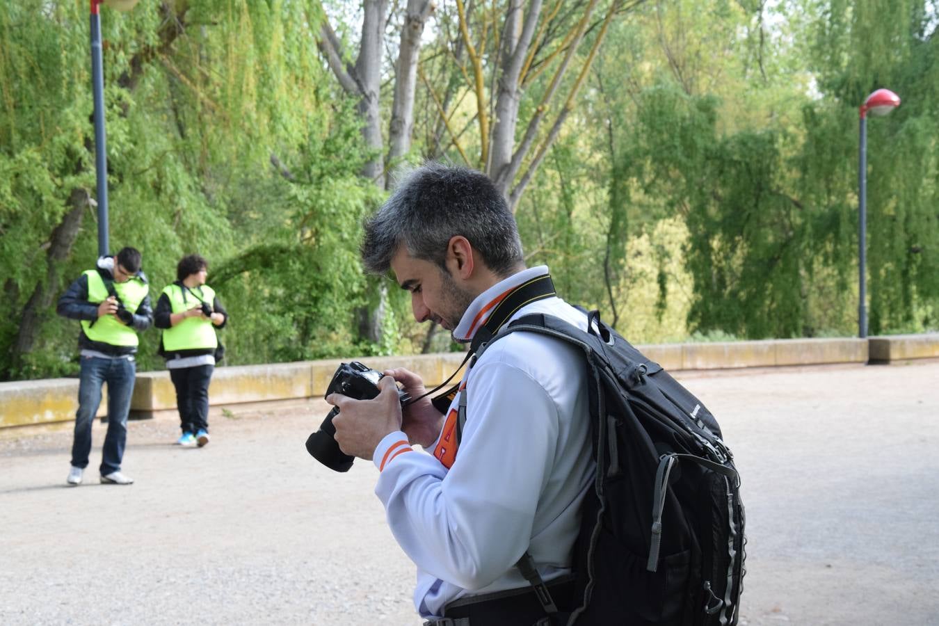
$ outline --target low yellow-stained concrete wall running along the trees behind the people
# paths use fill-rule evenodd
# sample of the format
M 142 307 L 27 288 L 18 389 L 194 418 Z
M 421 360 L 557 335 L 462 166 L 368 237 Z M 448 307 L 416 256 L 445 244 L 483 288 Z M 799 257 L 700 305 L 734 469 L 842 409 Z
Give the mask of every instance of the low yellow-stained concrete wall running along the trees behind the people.
M 939 358 L 939 333 L 861 339 L 792 339 L 716 344 L 638 345 L 646 356 L 670 371 L 714 370 L 869 360 Z M 405 367 L 421 374 L 432 389 L 459 367 L 465 355 L 444 353 L 413 357 L 360 358 L 375 369 Z M 341 359 L 272 365 L 220 367 L 212 376 L 212 405 L 297 401 L 322 396 Z M 454 377 L 458 380 L 459 374 Z M 0 428 L 74 420 L 78 379 L 54 378 L 0 383 Z M 103 403 L 102 403 L 103 404 Z M 168 372 L 139 372 L 131 399 L 131 417 L 148 418 L 176 409 Z M 99 415 L 105 413 L 105 407 Z

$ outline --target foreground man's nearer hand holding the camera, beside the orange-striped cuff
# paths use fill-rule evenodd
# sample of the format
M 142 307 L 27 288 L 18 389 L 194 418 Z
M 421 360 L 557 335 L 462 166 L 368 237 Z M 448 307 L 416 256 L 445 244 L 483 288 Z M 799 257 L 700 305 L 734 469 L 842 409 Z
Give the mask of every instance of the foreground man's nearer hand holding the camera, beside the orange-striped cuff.
M 385 435 L 401 430 L 401 402 L 391 376 L 378 381 L 374 400 L 355 400 L 341 393 L 331 393 L 326 402 L 339 407 L 332 419 L 336 443 L 346 454 L 371 461 Z

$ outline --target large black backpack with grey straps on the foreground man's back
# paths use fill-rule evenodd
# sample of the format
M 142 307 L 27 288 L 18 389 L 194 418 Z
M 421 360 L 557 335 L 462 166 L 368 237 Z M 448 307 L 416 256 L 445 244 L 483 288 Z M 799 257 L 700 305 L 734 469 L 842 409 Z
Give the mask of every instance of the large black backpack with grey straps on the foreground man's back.
M 525 331 L 577 345 L 586 357 L 597 473 L 575 547 L 579 602 L 567 613 L 543 601 L 555 611 L 550 622 L 736 624 L 745 538 L 731 450 L 697 398 L 599 313 L 588 315 L 591 332 L 526 315 L 476 353 Z M 519 567 L 540 595 L 544 585 L 524 567 L 530 558 Z

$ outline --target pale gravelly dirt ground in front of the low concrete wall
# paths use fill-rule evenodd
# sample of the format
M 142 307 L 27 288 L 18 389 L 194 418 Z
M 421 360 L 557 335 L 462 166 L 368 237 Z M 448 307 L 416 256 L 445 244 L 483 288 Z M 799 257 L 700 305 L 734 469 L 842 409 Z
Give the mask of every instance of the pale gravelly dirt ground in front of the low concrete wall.
M 741 624 L 939 624 L 939 362 L 679 374 L 747 505 Z M 204 449 L 131 422 L 124 471 L 65 486 L 71 424 L 0 430 L 0 624 L 414 626 L 377 470 L 303 447 L 328 405 L 213 411 Z

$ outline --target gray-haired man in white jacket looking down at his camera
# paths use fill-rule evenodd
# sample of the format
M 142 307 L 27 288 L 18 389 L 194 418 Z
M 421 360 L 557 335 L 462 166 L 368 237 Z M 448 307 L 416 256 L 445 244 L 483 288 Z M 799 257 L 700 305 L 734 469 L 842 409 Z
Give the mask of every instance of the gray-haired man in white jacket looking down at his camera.
M 427 624 L 548 623 L 535 589 L 562 612 L 574 605 L 573 548 L 595 470 L 583 356 L 536 333 L 485 341 L 523 315 L 583 330 L 587 315 L 557 297 L 547 267 L 525 267 L 504 198 L 469 169 L 411 172 L 365 224 L 362 261 L 391 269 L 418 321 L 479 355 L 444 410 L 423 397 L 402 411 L 395 381 L 411 398 L 426 392 L 405 369 L 385 372 L 374 400 L 327 398 L 341 449 L 380 472 L 376 494 L 418 569 L 415 606 Z

